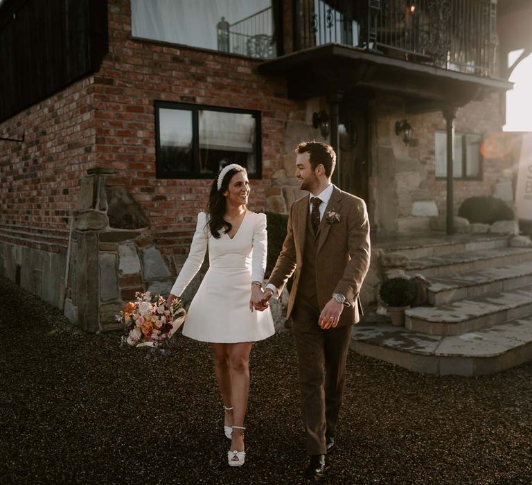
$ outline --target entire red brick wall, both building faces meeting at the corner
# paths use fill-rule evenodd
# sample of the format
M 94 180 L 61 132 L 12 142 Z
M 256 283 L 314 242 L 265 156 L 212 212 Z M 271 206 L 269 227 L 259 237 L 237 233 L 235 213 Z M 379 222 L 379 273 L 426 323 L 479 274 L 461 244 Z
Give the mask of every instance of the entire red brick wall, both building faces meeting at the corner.
M 79 179 L 104 166 L 120 170 L 163 254 L 186 253 L 211 180 L 155 178 L 154 100 L 260 110 L 263 179 L 251 181 L 249 207 L 264 210 L 287 119 L 305 112 L 283 80 L 256 74 L 258 63 L 131 39 L 130 1 L 110 0 L 100 71 L 0 125 L 3 136 L 26 128 L 25 143 L 0 141 L 0 240 L 64 252 Z

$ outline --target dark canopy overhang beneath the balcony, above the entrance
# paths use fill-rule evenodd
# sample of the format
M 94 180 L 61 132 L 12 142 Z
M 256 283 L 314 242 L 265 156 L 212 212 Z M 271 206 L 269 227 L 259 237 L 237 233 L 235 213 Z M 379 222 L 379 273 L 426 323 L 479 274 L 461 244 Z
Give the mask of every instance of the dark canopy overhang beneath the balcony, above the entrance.
M 283 55 L 258 65 L 263 75 L 283 76 L 288 96 L 307 99 L 357 90 L 386 91 L 423 109 L 460 107 L 494 91 L 512 89 L 497 78 L 441 69 L 390 58 L 341 44 L 326 44 Z

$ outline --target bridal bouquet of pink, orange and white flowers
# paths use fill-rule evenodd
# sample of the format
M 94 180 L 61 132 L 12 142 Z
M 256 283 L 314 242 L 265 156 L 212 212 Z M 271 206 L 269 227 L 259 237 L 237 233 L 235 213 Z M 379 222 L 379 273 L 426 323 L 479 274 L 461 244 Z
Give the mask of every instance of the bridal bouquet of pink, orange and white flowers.
M 116 315 L 127 328 L 127 337 L 122 337 L 122 342 L 134 347 L 161 349 L 186 319 L 183 303 L 176 298 L 171 308 L 166 308 L 166 299 L 160 295 L 154 301 L 150 292 L 136 292 L 135 297 L 135 301 L 126 303 L 124 310 Z

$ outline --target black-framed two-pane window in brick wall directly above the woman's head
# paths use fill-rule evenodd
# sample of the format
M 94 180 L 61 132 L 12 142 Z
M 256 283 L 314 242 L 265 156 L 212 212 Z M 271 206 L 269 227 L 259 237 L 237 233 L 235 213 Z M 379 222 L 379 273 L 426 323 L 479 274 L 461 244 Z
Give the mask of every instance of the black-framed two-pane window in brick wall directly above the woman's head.
M 227 164 L 262 174 L 260 113 L 184 103 L 155 102 L 157 178 L 213 178 Z

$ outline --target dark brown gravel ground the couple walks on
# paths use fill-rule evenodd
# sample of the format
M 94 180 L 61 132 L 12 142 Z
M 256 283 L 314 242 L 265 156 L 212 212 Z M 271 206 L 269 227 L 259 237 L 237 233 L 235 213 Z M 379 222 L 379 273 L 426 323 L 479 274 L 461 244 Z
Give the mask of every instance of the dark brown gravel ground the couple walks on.
M 292 335 L 251 353 L 247 462 L 229 468 L 209 346 L 153 362 L 0 279 L 0 482 L 297 484 L 306 465 Z M 532 363 L 411 373 L 351 352 L 335 484 L 531 484 Z

